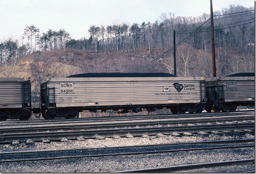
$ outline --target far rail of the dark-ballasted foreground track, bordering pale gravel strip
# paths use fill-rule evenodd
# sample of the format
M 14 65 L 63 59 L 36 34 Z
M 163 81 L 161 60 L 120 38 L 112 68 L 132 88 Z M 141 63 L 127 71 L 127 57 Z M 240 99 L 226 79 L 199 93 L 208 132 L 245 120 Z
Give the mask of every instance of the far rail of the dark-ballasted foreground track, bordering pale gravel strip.
M 194 141 L 194 142 L 180 142 L 180 143 L 166 143 L 166 144 L 150 144 L 150 145 L 134 145 L 134 146 L 113 146 L 113 147 L 90 147 L 90 148 L 77 148 L 77 149 L 58 149 L 58 150 L 37 150 L 37 151 L 14 151 L 14 152 L 0 152 L 0 155 L 13 155 L 13 154 L 28 154 L 28 153 L 49 153 L 61 151 L 84 151 L 84 150 L 100 150 L 100 149 L 124 149 L 124 148 L 139 148 L 139 147 L 153 147 L 153 146 L 175 146 L 175 145 L 196 145 L 196 144 L 223 144 L 223 143 L 245 143 L 254 142 L 254 138 L 246 139 L 228 139 L 228 140 L 215 140 L 215 141 Z

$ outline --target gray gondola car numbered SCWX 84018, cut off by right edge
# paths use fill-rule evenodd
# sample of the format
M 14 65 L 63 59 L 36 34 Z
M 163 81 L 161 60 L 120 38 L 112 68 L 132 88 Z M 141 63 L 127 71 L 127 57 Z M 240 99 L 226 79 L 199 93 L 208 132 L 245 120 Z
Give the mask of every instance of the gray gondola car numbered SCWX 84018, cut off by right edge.
M 212 109 L 215 112 L 233 112 L 239 105 L 254 106 L 255 77 L 243 76 L 243 73 L 240 73 L 238 77 L 234 74 L 229 77 L 206 78 L 206 92 L 207 112 L 211 112 Z

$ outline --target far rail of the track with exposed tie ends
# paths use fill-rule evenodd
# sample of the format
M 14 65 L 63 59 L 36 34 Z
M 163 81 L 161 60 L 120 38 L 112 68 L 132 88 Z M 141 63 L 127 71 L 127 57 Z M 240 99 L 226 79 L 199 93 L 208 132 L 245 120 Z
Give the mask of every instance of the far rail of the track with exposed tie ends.
M 0 134 L 13 133 L 32 133 L 45 131 L 67 131 L 79 129 L 113 129 L 113 128 L 137 128 L 149 126 L 171 126 L 171 125 L 185 125 L 185 124 L 205 124 L 205 123 L 223 123 L 228 121 L 245 121 L 255 120 L 255 116 L 247 117 L 225 117 L 225 118 L 208 118 L 200 120 L 166 120 L 166 121 L 146 121 L 146 122 L 123 122 L 123 123 L 108 123 L 108 124 L 78 124 L 78 125 L 52 125 L 41 127 L 18 127 L 18 128 L 1 128 Z

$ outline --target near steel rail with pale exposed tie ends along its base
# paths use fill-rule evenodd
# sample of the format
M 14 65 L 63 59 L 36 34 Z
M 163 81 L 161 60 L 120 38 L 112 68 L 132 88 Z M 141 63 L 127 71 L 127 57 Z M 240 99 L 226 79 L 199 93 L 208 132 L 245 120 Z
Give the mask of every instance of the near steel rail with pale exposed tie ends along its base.
M 235 129 L 255 129 L 255 123 L 232 123 L 232 124 L 212 124 L 212 125 L 187 125 L 187 126 L 166 126 L 166 127 L 152 127 L 152 128 L 125 128 L 125 129 L 100 129 L 100 130 L 80 130 L 80 131 L 59 131 L 59 132 L 43 132 L 43 133 L 20 133 L 20 134 L 0 134 L 0 142 L 7 142 L 12 140 L 28 140 L 28 139 L 76 139 L 80 136 L 84 138 L 94 138 L 95 135 L 104 137 L 113 137 L 113 135 L 125 136 L 132 134 L 140 136 L 142 134 L 155 135 L 159 132 L 163 134 L 170 134 L 173 132 L 198 132 L 198 131 L 223 131 Z

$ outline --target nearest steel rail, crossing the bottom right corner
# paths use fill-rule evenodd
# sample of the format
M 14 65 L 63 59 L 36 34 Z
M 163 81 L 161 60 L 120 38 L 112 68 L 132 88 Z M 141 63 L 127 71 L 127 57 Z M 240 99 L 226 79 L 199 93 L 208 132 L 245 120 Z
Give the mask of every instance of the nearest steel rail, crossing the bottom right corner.
M 252 158 L 252 159 L 241 159 L 241 160 L 234 160 L 234 161 L 221 161 L 221 162 L 210 162 L 210 163 L 198 163 L 198 164 L 191 164 L 191 165 L 159 167 L 159 168 L 151 168 L 151 169 L 115 171 L 113 173 L 164 173 L 164 172 L 174 172 L 174 171 L 180 171 L 180 170 L 191 170 L 191 169 L 200 169 L 200 168 L 209 168 L 209 167 L 248 165 L 248 164 L 254 164 L 254 163 L 255 163 L 255 158 Z

